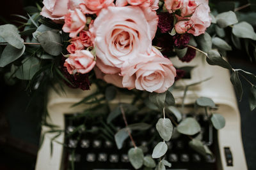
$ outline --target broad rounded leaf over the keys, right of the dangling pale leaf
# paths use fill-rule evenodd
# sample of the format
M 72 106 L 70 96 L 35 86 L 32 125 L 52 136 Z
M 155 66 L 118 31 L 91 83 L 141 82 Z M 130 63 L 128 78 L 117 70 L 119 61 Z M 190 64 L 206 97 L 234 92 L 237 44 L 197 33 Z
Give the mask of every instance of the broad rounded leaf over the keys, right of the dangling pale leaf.
M 195 118 L 188 117 L 180 122 L 177 126 L 177 131 L 181 134 L 194 135 L 201 131 L 201 127 Z

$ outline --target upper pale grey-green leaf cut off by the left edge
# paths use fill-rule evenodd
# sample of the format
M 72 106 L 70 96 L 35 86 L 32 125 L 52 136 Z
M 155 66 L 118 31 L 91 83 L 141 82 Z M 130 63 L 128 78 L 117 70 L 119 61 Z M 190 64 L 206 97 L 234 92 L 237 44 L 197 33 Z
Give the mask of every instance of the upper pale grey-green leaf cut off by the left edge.
M 19 31 L 15 25 L 0 25 L 0 36 L 15 48 L 24 48 L 24 40 L 20 38 Z

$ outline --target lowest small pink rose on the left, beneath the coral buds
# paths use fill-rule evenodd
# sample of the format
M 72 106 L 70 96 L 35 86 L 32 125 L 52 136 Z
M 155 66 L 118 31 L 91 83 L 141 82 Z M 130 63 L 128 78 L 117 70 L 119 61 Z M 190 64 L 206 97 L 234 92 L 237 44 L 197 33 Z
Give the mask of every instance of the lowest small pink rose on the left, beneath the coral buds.
M 69 74 L 88 73 L 93 69 L 96 62 L 94 56 L 88 50 L 77 50 L 65 60 L 64 66 L 67 67 Z

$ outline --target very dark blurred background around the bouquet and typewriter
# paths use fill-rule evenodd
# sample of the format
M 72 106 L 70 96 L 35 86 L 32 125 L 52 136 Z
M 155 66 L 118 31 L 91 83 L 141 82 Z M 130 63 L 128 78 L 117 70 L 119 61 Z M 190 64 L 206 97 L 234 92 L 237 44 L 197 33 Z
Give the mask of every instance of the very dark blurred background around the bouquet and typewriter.
M 38 1 L 40 3 L 40 1 Z M 218 1 L 212 1 L 217 3 Z M 240 1 L 241 5 L 247 1 Z M 35 1 L 8 0 L 1 1 L 0 24 L 12 22 L 11 14 L 26 15 L 24 6 L 35 4 Z M 256 74 L 256 64 L 249 62 L 245 52 L 232 51 L 228 53 L 228 60 L 234 68 L 241 68 Z M 241 80 L 243 89 L 250 85 Z M 0 70 L 0 169 L 20 170 L 35 169 L 36 153 L 40 138 L 42 110 L 40 99 L 29 104 L 31 97 L 25 91 L 26 84 L 18 83 L 8 86 L 4 83 Z M 39 106 L 38 106 L 39 105 Z M 244 152 L 249 170 L 256 169 L 256 111 L 250 111 L 247 93 L 239 103 L 241 112 L 242 136 Z M 243 170 L 243 169 L 241 169 Z

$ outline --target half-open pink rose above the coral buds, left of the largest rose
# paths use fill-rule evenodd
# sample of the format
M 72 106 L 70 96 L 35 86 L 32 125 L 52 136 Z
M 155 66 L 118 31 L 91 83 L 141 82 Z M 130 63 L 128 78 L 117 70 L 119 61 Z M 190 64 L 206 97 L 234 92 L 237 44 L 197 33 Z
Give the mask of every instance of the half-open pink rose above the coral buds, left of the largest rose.
M 70 32 L 71 38 L 76 38 L 77 34 L 84 29 L 85 24 L 86 17 L 80 10 L 69 10 L 65 15 L 65 24 L 62 29 L 64 32 Z

